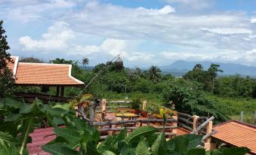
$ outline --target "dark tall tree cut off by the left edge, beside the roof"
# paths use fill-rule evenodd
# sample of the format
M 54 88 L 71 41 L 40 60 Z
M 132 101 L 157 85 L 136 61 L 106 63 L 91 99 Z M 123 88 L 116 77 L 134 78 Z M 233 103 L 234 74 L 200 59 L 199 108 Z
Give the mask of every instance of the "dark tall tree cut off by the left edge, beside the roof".
M 8 63 L 13 63 L 11 60 L 11 54 L 8 53 L 10 47 L 6 41 L 5 29 L 3 28 L 3 21 L 0 21 L 0 97 L 10 93 L 10 90 L 14 84 L 13 73 L 8 68 Z

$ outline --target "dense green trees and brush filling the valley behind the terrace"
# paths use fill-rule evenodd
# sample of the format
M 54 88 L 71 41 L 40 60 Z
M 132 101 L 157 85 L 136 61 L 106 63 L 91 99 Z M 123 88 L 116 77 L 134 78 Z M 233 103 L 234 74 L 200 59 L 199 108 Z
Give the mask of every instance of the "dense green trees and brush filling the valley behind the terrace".
M 71 64 L 72 76 L 85 84 L 88 84 L 106 66 L 101 63 L 93 70 L 87 70 L 79 66 L 79 61 L 57 58 L 51 62 Z M 170 108 L 168 102 L 172 101 L 177 111 L 199 116 L 213 115 L 217 122 L 237 119 L 240 111 L 245 111 L 246 116 L 251 116 L 245 121 L 254 123 L 255 79 L 242 78 L 238 74 L 230 77 L 217 77 L 217 72 L 221 71 L 219 67 L 219 65 L 212 64 L 205 70 L 202 65 L 198 64 L 183 78 L 174 78 L 171 74 L 161 74 L 157 66 L 142 71 L 140 68 L 125 68 L 120 67 L 116 62 L 108 62 L 107 68 L 103 69 L 85 92 L 105 99 L 125 99 L 125 96 L 128 96 L 129 100 L 145 99 L 149 103 L 148 109 L 155 111 L 161 105 Z M 16 90 L 42 92 L 40 87 L 28 87 L 28 89 L 17 87 Z M 81 90 L 82 88 L 66 87 L 65 96 L 77 96 Z M 54 96 L 55 91 L 54 88 L 50 88 L 48 94 Z M 237 100 L 242 104 L 236 105 Z

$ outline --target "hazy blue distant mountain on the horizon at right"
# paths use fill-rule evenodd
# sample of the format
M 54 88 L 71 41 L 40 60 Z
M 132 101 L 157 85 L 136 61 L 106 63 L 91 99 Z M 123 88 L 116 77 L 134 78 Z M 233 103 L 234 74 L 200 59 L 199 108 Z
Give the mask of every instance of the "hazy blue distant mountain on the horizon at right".
M 196 64 L 201 64 L 202 67 L 206 70 L 209 68 L 211 63 L 221 65 L 221 70 L 223 70 L 223 73 L 220 73 L 221 75 L 230 75 L 230 74 L 241 74 L 243 76 L 256 76 L 256 67 L 254 66 L 248 66 L 248 65 L 239 65 L 235 63 L 221 63 L 221 62 L 187 62 L 184 60 L 177 60 L 176 62 L 173 62 L 171 65 L 165 65 L 159 67 L 162 72 L 164 73 L 171 73 L 171 72 L 180 72 L 180 73 L 186 73 L 187 71 L 190 71 L 193 69 L 193 67 Z

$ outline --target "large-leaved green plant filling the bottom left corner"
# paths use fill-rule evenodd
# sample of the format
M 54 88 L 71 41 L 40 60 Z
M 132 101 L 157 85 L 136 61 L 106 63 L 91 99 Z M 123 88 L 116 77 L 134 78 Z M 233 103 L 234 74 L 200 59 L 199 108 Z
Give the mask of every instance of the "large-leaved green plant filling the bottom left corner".
M 70 105 L 71 106 L 71 105 Z M 61 117 L 69 113 L 67 105 L 44 105 L 39 99 L 32 104 L 6 98 L 0 101 L 0 154 L 28 154 L 26 144 L 31 142 L 29 133 L 40 126 L 46 117 L 50 124 L 64 123 Z

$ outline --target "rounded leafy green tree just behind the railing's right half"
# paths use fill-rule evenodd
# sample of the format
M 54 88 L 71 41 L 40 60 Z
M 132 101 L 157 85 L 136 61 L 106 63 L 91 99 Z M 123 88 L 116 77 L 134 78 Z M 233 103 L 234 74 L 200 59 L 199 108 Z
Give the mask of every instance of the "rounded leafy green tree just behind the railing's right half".
M 199 89 L 198 84 L 172 84 L 170 90 L 164 93 L 165 106 L 172 101 L 175 104 L 175 109 L 187 114 L 196 114 L 199 116 L 213 115 L 217 120 L 227 120 L 224 114 L 214 105 L 217 104 L 214 100 L 207 98 L 207 93 Z M 168 100 L 167 100 L 168 99 Z

